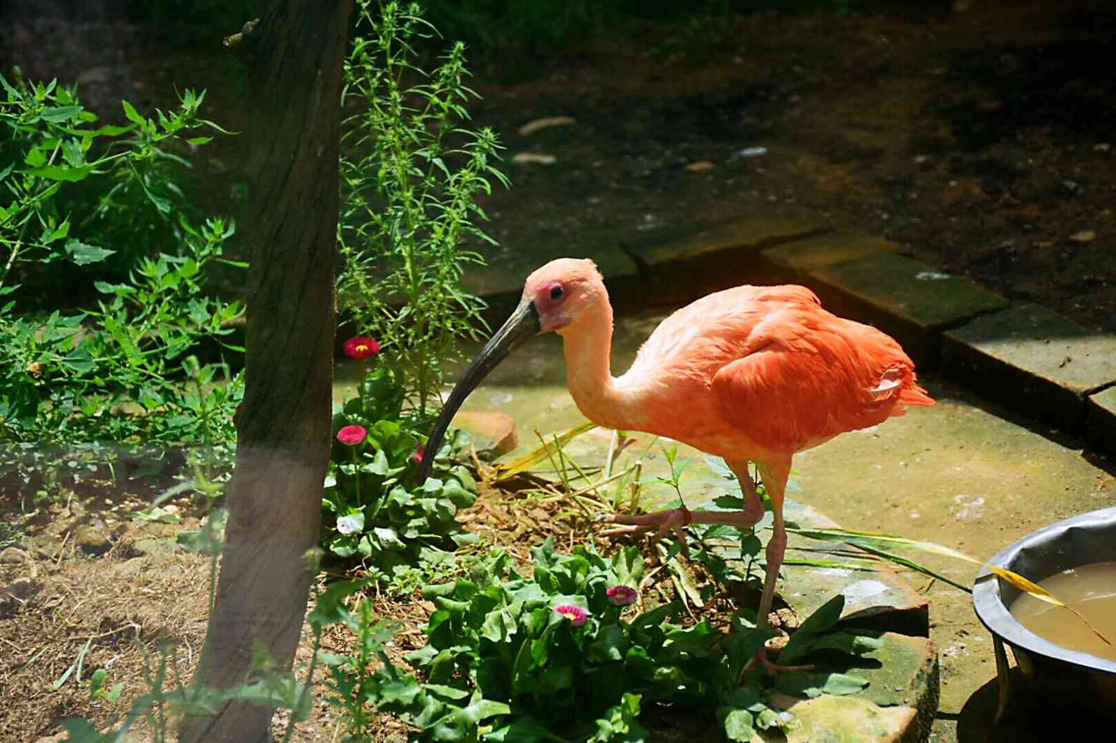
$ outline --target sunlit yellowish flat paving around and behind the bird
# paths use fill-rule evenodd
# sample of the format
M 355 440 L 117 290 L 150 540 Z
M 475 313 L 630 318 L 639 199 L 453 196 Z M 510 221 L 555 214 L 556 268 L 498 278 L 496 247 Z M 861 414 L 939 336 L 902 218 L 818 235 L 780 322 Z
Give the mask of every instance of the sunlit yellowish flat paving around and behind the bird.
M 617 319 L 614 374 L 627 367 L 664 316 Z M 507 413 L 517 423 L 520 447 L 537 446 L 536 430 L 549 434 L 583 421 L 565 389 L 564 368 L 557 336 L 532 339 L 473 393 L 465 409 Z M 344 380 L 352 372 L 354 367 L 343 367 L 338 376 Z M 1077 440 L 1023 421 L 943 378 L 924 374 L 921 382 L 936 406 L 800 453 L 795 471 L 801 491 L 791 498 L 848 529 L 931 540 L 983 559 L 1047 523 L 1116 503 L 1112 461 L 1085 454 Z M 596 451 L 599 464 L 607 436 L 602 431 L 586 434 L 570 452 Z M 683 455 L 694 460 L 683 477 L 683 493 L 694 495 L 693 502 L 716 495 L 709 491 L 719 486 L 719 479 L 708 472 L 702 455 L 685 447 Z M 651 472 L 663 465 L 654 448 L 646 450 L 644 460 Z M 660 493 L 663 500 L 670 495 L 666 489 Z M 911 557 L 963 585 L 971 585 L 978 570 L 925 553 Z M 918 575 L 910 580 L 930 600 L 931 639 L 941 652 L 941 705 L 930 740 L 983 741 L 995 702 L 991 637 L 968 594 Z M 1030 727 L 1017 728 L 1021 732 L 1012 740 L 1031 740 Z

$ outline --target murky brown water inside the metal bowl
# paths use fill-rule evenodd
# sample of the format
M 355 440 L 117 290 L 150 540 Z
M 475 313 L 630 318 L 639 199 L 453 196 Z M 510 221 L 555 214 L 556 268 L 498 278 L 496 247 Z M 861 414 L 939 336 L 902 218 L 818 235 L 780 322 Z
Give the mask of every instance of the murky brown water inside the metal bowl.
M 1070 568 L 1040 580 L 1039 585 L 1116 643 L 1116 561 Z M 1021 594 L 1011 602 L 1010 610 L 1016 621 L 1055 645 L 1116 660 L 1116 645 L 1106 645 L 1085 623 L 1061 607 Z

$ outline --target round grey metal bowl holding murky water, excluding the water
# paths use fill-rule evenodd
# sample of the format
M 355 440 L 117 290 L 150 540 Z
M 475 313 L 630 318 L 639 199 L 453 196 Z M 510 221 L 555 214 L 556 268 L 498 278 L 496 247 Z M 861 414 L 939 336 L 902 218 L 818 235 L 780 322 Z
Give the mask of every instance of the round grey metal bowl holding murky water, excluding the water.
M 1039 529 L 998 552 L 990 562 L 1039 582 L 1079 565 L 1108 560 L 1116 560 L 1116 508 Z M 1047 704 L 1110 710 L 1116 703 L 1116 662 L 1060 647 L 1026 629 L 1008 611 L 1019 594 L 987 569 L 973 586 L 977 616 L 997 641 L 1000 712 L 1009 692 L 1007 657 L 1000 641 L 1016 656 L 1024 694 L 1041 697 Z

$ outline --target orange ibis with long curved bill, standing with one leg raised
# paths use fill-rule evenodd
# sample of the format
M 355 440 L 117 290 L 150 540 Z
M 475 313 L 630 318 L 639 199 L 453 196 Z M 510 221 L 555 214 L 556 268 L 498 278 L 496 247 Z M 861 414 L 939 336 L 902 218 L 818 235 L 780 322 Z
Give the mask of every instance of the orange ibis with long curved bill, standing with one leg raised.
M 421 479 L 461 403 L 532 335 L 555 331 L 566 354 L 566 384 L 585 417 L 607 428 L 645 431 L 724 459 L 740 480 L 744 509 L 644 515 L 606 534 L 673 531 L 683 546 L 691 523 L 751 528 L 763 504 L 748 472 L 754 462 L 775 515 L 758 620 L 768 624 L 787 547 L 782 505 L 791 457 L 845 433 L 933 405 L 915 384 L 914 364 L 889 336 L 821 309 L 806 287 L 737 287 L 663 320 L 619 377 L 609 369 L 613 308 L 589 260 L 561 258 L 527 279 L 522 299 L 450 394 L 431 434 Z

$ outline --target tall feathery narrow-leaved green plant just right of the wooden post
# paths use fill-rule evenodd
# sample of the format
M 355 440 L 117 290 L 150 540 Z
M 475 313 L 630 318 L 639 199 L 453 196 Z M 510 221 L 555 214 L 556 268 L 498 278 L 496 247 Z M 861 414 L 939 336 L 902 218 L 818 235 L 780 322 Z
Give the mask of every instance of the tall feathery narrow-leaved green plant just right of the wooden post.
M 345 61 L 341 219 L 337 278 L 344 316 L 362 332 L 389 339 L 406 396 L 424 415 L 456 358 L 462 337 L 482 326 L 483 302 L 461 287 L 480 255 L 466 240 L 493 242 L 474 223 L 496 168 L 499 143 L 488 128 L 462 128 L 475 94 L 455 44 L 432 73 L 413 44 L 429 38 L 416 4 L 377 8 L 358 0 L 359 23 Z

